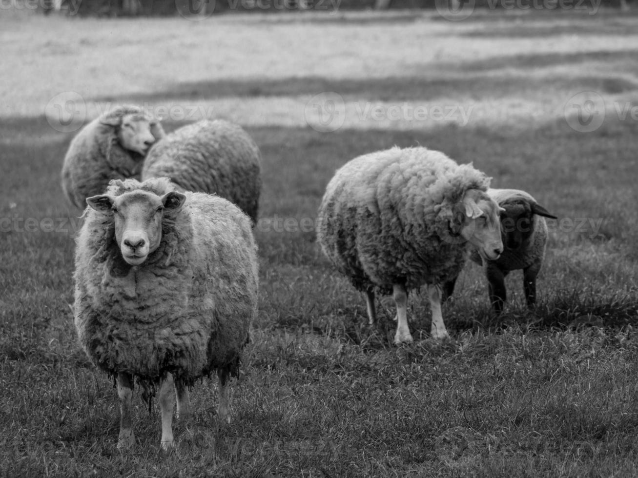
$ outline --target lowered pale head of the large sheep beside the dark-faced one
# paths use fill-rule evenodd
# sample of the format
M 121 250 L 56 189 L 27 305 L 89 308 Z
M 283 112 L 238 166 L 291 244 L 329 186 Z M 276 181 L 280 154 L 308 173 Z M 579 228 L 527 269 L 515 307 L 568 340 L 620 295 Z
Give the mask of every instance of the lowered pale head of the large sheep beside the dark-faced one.
M 499 214 L 503 211 L 494 199 L 479 189 L 468 189 L 454 205 L 434 208 L 447 220 L 449 236 L 444 240 L 469 242 L 481 257 L 494 261 L 503 252 Z

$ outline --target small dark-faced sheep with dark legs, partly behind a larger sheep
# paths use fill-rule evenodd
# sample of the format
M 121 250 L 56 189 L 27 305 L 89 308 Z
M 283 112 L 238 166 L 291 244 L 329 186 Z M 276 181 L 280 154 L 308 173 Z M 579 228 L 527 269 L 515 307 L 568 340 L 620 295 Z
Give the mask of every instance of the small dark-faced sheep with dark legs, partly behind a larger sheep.
M 505 249 L 496 260 L 483 261 L 473 251 L 470 258 L 485 266 L 489 284 L 489 300 L 494 312 L 500 314 L 507 300 L 505 276 L 523 269 L 523 290 L 528 307 L 536 303 L 536 277 L 545 257 L 547 224 L 544 217 L 556 219 L 539 205 L 528 192 L 519 189 L 488 189 L 487 194 L 504 210 L 501 212 L 501 235 Z M 445 293 L 452 295 L 456 278 L 445 284 Z

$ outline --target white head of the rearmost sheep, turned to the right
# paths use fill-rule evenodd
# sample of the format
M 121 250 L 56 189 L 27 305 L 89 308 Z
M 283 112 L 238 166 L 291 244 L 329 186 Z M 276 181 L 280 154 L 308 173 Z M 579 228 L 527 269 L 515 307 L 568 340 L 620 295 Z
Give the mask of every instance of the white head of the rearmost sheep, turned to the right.
M 116 108 L 100 119 L 101 124 L 115 127 L 117 140 L 124 149 L 144 156 L 149 148 L 165 136 L 158 120 L 137 107 Z

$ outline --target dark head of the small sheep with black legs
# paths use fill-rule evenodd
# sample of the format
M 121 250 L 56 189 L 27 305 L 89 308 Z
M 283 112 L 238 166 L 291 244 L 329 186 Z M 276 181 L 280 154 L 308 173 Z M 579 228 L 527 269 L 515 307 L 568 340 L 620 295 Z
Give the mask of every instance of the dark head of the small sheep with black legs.
M 535 214 L 556 219 L 543 206 L 524 197 L 503 201 L 501 206 L 501 235 L 503 245 L 509 250 L 521 249 L 530 239 L 535 227 Z

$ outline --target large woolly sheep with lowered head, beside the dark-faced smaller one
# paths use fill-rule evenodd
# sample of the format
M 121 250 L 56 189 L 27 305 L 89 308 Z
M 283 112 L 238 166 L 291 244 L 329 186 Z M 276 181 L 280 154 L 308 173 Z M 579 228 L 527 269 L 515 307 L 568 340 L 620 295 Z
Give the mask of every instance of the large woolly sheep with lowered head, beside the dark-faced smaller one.
M 392 148 L 360 156 L 340 168 L 318 213 L 318 241 L 339 272 L 366 292 L 375 322 L 375 289 L 397 307 L 394 342 L 412 342 L 408 291 L 427 285 L 431 334 L 447 337 L 440 284 L 456 277 L 467 243 L 486 259 L 503 250 L 500 211 L 486 194 L 489 178 L 438 151 Z

